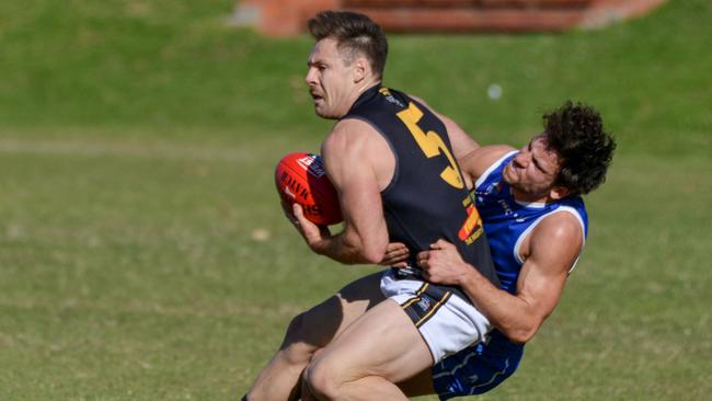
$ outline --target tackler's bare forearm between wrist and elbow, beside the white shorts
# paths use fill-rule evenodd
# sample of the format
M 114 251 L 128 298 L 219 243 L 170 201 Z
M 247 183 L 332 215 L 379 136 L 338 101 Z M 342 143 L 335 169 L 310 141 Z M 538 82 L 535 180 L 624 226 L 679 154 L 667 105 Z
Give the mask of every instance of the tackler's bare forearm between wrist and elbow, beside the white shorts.
M 492 325 L 509 340 L 526 343 L 539 329 L 541 319 L 525 300 L 496 288 L 474 268 L 471 267 L 459 285 Z

